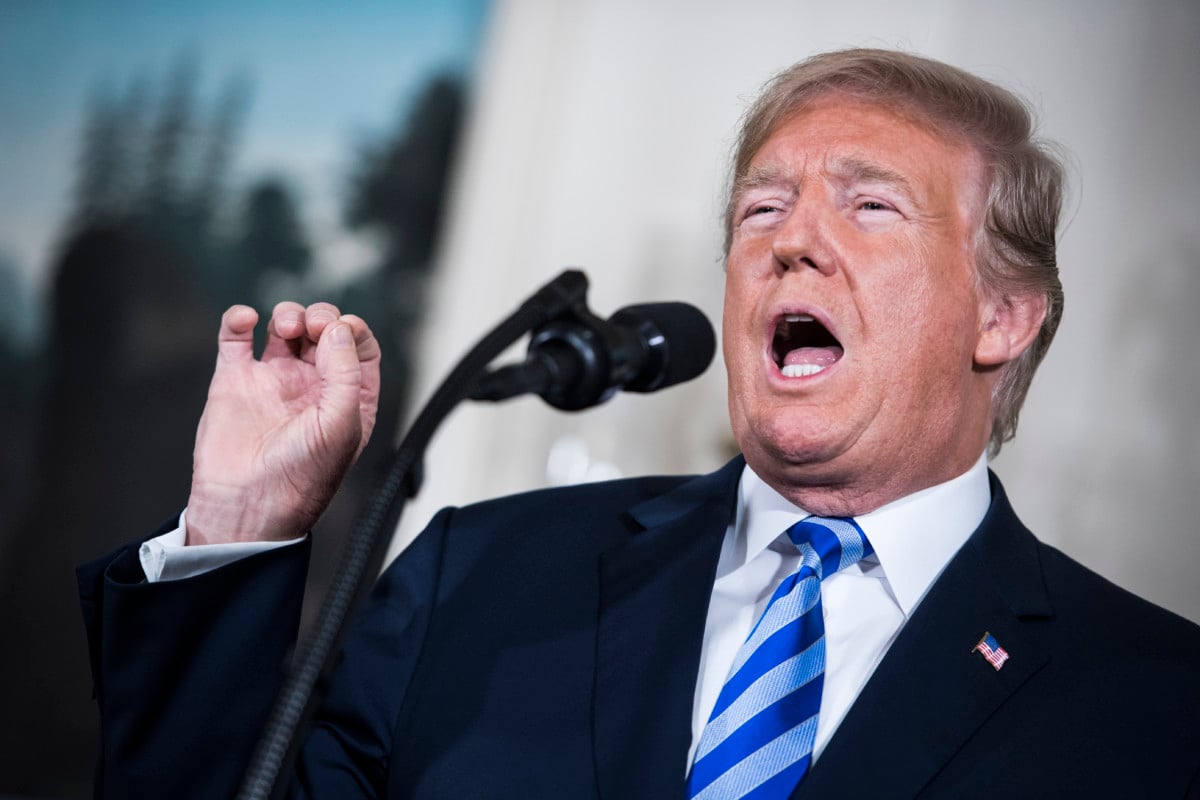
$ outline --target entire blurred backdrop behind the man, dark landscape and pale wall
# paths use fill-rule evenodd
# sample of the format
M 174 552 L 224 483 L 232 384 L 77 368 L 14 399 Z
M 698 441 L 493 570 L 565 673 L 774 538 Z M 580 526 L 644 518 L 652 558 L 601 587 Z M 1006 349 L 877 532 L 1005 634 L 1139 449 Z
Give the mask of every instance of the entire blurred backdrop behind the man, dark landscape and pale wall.
M 996 79 L 1069 152 L 1066 318 L 994 468 L 1043 539 L 1200 621 L 1194 2 L 168 8 L 0 8 L 0 795 L 86 794 L 71 567 L 184 503 L 220 308 L 329 297 L 385 338 L 383 427 L 318 530 L 319 595 L 386 434 L 564 266 L 601 315 L 685 300 L 719 320 L 739 115 L 838 47 Z M 724 381 L 460 409 L 396 547 L 445 504 L 715 468 Z

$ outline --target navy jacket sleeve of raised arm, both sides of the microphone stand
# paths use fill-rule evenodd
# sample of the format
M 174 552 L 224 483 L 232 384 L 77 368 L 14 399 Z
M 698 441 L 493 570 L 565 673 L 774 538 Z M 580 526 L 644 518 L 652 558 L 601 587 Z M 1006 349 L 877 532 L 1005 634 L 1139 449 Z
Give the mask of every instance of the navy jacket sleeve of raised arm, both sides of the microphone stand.
M 358 614 L 290 796 L 385 793 L 394 716 L 419 657 L 448 516 Z M 234 796 L 295 643 L 308 543 L 154 584 L 139 543 L 78 570 L 101 721 L 96 796 Z

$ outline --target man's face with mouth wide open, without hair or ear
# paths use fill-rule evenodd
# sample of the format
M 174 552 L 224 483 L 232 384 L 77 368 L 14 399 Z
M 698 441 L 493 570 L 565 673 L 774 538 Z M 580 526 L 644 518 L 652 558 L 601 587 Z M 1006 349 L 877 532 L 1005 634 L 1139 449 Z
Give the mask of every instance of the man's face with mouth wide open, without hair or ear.
M 750 467 L 793 501 L 863 513 L 983 452 L 980 186 L 967 146 L 840 96 L 755 154 L 727 261 L 730 417 Z

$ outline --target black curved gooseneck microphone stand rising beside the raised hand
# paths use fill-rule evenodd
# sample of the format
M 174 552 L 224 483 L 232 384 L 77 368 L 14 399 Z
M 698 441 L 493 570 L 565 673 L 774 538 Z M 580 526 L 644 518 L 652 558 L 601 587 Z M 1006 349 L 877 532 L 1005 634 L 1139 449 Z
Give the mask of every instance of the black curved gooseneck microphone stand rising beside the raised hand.
M 281 775 L 290 770 L 301 739 L 298 730 L 316 710 L 316 688 L 330 672 L 350 612 L 366 594 L 367 576 L 379 571 L 390 533 L 404 504 L 421 483 L 425 450 L 442 421 L 468 395 L 496 356 L 530 330 L 572 311 L 586 311 L 588 279 L 566 270 L 534 293 L 491 330 L 446 375 L 418 414 L 374 494 L 360 511 L 320 612 L 305 642 L 292 658 L 275 698 L 250 765 L 242 775 L 240 800 L 268 800 Z M 384 533 L 388 536 L 384 536 Z

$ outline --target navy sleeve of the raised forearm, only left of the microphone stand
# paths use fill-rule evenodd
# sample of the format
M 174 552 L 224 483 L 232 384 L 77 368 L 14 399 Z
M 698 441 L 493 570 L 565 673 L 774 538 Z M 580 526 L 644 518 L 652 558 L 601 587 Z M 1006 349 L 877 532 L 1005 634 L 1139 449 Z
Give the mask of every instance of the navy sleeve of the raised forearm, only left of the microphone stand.
M 101 720 L 96 796 L 232 796 L 295 640 L 308 546 L 151 584 L 139 543 L 77 572 Z

